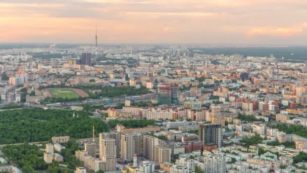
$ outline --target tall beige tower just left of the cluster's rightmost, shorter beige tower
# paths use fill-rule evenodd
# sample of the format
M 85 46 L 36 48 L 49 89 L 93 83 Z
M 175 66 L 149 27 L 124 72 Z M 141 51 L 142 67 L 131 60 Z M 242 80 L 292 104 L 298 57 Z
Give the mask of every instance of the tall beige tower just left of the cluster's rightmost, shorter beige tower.
M 155 160 L 155 146 L 159 145 L 159 139 L 153 136 L 143 136 L 143 157 Z

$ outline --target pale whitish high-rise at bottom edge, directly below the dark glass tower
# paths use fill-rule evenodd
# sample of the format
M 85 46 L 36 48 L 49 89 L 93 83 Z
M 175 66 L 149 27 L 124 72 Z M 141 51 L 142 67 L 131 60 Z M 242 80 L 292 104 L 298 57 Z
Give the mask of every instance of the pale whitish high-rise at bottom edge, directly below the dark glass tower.
M 207 155 L 203 158 L 204 173 L 221 173 L 225 172 L 225 161 L 223 155 Z

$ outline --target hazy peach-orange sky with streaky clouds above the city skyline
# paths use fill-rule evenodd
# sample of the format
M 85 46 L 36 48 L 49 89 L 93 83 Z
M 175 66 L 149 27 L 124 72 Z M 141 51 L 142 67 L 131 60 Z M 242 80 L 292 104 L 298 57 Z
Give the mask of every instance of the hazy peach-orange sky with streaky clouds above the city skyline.
M 305 0 L 1 0 L 0 42 L 307 45 Z

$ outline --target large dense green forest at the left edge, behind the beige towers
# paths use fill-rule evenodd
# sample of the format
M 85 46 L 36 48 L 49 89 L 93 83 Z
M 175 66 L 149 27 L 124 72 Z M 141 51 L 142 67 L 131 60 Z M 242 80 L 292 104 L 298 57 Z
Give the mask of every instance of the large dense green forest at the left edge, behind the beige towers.
M 99 118 L 90 118 L 88 112 L 59 109 L 19 109 L 0 112 L 0 144 L 48 141 L 53 136 L 90 138 L 92 126 L 96 135 L 109 132 Z M 77 117 L 78 116 L 78 117 Z

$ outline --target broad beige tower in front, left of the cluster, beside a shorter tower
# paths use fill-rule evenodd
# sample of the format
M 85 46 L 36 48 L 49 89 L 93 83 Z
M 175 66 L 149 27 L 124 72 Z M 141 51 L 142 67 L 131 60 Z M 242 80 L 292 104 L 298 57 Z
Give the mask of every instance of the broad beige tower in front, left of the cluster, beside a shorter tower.
M 99 156 L 100 159 L 107 156 L 116 156 L 116 140 L 112 138 L 100 139 Z

